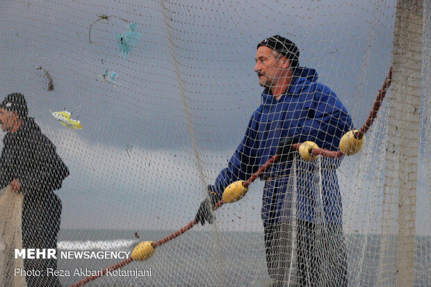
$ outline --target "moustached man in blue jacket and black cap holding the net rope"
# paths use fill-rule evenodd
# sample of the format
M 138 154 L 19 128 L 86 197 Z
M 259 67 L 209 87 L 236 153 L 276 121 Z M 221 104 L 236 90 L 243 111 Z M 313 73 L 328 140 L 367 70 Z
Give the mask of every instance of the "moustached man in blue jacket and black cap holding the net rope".
M 261 105 L 227 167 L 209 186 L 195 221 L 212 223 L 223 190 L 247 180 L 278 154 L 282 160 L 261 175 L 266 262 L 274 286 L 347 286 L 336 175 L 341 160 L 307 162 L 291 145 L 312 141 L 337 150 L 352 120 L 335 93 L 317 81 L 316 70 L 299 66 L 299 54 L 295 43 L 279 35 L 257 45 L 254 72 L 264 88 Z

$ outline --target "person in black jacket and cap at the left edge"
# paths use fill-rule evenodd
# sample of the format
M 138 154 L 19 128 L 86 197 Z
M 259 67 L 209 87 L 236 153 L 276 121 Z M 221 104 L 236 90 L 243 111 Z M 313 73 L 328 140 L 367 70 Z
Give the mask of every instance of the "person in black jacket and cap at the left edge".
M 12 93 L 0 104 L 1 129 L 6 131 L 0 156 L 0 188 L 11 185 L 24 195 L 22 247 L 57 248 L 61 201 L 53 192 L 62 186 L 69 170 L 56 147 L 35 120 L 28 117 L 24 95 Z M 47 274 L 56 270 L 56 259 L 24 259 L 24 270 L 40 270 L 42 276 L 26 276 L 27 286 L 60 286 Z

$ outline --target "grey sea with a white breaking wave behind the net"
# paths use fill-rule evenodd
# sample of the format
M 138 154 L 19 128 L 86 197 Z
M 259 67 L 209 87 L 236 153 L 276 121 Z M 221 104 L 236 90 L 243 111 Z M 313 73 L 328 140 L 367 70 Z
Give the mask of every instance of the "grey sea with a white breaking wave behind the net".
M 142 241 L 157 241 L 172 232 L 62 229 L 58 235 L 58 253 L 131 252 Z M 376 285 L 381 240 L 377 235 L 345 237 L 349 286 Z M 414 286 L 431 286 L 431 236 L 416 236 L 415 255 Z M 58 270 L 63 273 L 59 279 L 63 286 L 70 286 L 91 272 L 101 272 L 123 260 L 58 258 Z M 65 276 L 67 270 L 69 275 Z M 188 231 L 157 247 L 147 261 L 132 261 L 120 270 L 122 273 L 106 274 L 86 286 L 271 286 L 273 283 L 266 269 L 261 232 Z M 385 286 L 395 286 L 391 285 L 391 276 L 387 280 Z

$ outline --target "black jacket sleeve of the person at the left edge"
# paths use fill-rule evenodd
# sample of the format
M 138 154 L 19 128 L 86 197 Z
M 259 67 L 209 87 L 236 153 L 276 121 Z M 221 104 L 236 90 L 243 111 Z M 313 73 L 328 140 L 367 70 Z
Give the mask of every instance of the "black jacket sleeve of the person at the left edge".
M 56 147 L 42 133 L 33 134 L 33 167 L 24 172 L 21 181 L 24 192 L 35 190 L 57 190 L 63 179 L 69 175 L 69 169 L 56 152 Z

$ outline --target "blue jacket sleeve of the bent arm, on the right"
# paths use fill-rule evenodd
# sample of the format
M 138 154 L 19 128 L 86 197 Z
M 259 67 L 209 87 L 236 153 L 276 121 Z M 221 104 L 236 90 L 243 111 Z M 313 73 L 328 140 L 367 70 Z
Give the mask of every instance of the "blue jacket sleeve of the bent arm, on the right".
M 324 86 L 314 91 L 314 100 L 303 124 L 294 131 L 295 142 L 311 140 L 325 149 L 337 150 L 341 137 L 352 129 L 352 119 L 338 97 Z

